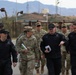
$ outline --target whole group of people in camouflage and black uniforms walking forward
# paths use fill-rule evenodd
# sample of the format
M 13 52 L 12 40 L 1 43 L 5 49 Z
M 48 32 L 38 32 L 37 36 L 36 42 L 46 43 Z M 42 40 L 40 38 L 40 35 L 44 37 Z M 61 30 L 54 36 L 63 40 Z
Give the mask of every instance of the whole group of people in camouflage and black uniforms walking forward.
M 35 29 L 25 26 L 23 33 L 16 39 L 14 46 L 8 39 L 8 31 L 0 30 L 0 75 L 12 75 L 11 55 L 13 66 L 17 65 L 19 54 L 19 70 L 21 75 L 36 75 L 44 73 L 46 64 L 48 75 L 76 75 L 76 23 L 73 30 L 67 29 L 66 25 L 50 23 L 48 31 L 42 29 L 41 22 L 36 23 Z M 65 67 L 66 61 L 66 67 Z M 41 68 L 40 68 L 41 67 Z M 66 74 L 65 74 L 66 70 Z M 9 72 L 8 72 L 9 71 Z

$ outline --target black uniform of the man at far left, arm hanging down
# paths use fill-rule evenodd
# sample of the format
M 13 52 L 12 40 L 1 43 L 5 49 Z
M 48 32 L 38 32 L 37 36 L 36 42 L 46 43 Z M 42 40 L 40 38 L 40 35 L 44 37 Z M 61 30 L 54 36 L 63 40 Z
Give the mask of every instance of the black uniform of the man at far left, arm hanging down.
M 10 40 L 2 42 L 0 40 L 0 75 L 12 75 L 12 61 L 17 62 L 17 52 Z

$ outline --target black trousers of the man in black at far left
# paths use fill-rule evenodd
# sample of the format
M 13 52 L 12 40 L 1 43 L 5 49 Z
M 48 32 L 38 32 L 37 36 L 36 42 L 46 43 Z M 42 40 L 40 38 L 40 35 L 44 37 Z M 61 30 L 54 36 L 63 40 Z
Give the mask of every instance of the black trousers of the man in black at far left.
M 12 75 L 11 62 L 0 62 L 0 75 Z

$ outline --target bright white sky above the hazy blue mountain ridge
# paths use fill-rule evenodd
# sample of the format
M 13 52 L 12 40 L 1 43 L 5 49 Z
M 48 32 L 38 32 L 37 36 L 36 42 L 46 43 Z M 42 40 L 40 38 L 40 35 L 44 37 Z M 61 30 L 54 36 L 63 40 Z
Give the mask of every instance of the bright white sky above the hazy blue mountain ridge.
M 56 5 L 56 0 L 8 0 L 8 1 L 12 1 L 12 2 L 17 1 L 18 3 L 24 3 L 27 1 L 40 1 L 41 3 L 44 3 L 44 4 Z M 58 6 L 66 7 L 66 8 L 76 8 L 76 0 L 59 0 Z

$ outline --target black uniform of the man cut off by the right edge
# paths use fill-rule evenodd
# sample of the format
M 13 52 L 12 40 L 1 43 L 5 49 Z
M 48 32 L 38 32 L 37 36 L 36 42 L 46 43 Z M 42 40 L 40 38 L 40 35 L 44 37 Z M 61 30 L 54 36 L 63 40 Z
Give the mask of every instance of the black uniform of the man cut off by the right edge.
M 68 38 L 68 50 L 70 51 L 72 75 L 76 75 L 76 33 L 71 32 L 68 35 Z

